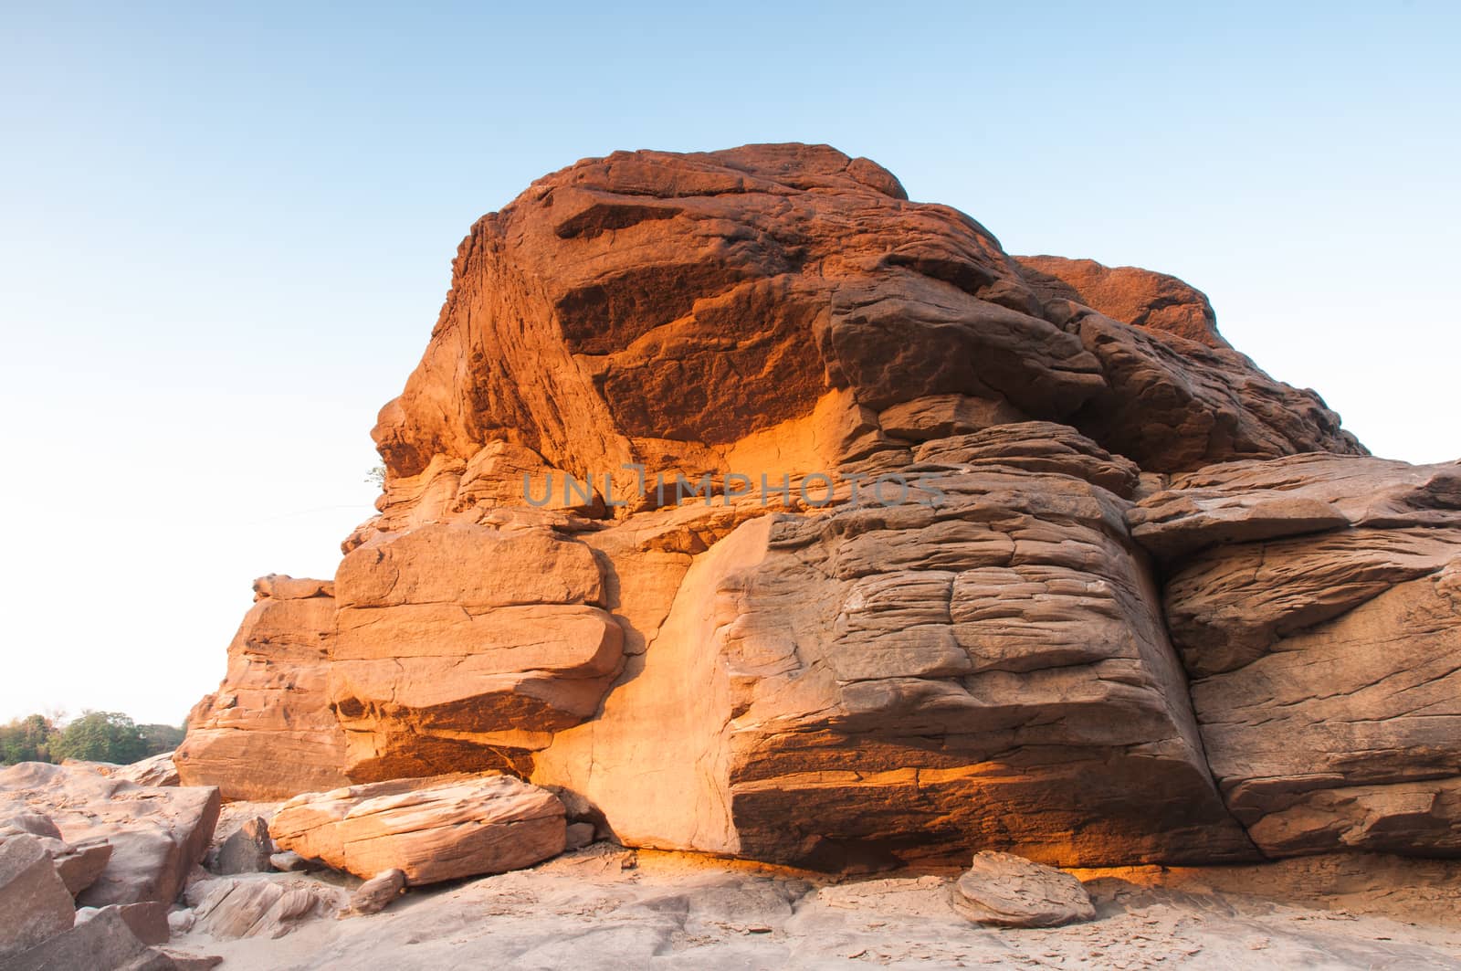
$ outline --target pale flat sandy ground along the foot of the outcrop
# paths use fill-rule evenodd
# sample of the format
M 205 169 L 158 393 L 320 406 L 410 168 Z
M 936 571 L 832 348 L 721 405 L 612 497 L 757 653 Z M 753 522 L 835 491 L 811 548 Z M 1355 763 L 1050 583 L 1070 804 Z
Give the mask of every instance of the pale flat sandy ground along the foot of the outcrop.
M 235 968 L 1458 968 L 1461 861 L 1315 857 L 1078 870 L 1087 924 L 977 927 L 954 874 L 828 880 L 596 845 L 533 870 L 412 891 L 276 940 L 171 948 Z M 270 879 L 270 877 L 259 877 Z

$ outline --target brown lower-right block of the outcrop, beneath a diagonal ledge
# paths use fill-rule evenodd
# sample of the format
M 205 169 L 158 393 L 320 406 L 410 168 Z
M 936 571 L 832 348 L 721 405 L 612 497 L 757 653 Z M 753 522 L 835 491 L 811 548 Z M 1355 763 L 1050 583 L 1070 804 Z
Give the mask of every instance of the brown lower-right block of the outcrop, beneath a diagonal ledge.
M 1461 551 L 1192 698 L 1213 772 L 1265 853 L 1461 851 Z

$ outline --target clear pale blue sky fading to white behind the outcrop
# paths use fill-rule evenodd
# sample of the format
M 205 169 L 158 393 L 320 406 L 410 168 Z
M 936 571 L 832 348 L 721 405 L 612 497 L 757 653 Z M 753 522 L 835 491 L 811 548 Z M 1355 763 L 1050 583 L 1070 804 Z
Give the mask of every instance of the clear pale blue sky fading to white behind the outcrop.
M 0 1 L 0 719 L 181 721 L 371 515 L 468 227 L 619 148 L 866 155 L 1461 458 L 1461 7 L 1186 6 Z

